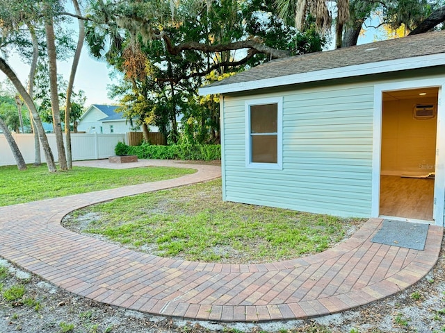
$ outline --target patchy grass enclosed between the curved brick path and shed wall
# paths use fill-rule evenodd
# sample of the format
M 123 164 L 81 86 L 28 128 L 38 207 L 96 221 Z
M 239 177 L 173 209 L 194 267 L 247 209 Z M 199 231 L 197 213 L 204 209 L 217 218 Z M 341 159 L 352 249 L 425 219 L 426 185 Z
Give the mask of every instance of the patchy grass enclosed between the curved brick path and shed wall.
M 321 252 L 362 221 L 223 202 L 214 180 L 92 205 L 63 223 L 162 257 L 258 263 Z

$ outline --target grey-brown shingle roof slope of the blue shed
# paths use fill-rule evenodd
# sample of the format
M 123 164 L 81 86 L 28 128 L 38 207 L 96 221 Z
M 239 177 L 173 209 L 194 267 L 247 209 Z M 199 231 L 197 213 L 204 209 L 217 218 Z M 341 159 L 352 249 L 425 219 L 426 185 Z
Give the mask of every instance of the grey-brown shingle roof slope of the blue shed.
M 445 53 L 445 31 L 272 60 L 203 88 L 437 53 Z

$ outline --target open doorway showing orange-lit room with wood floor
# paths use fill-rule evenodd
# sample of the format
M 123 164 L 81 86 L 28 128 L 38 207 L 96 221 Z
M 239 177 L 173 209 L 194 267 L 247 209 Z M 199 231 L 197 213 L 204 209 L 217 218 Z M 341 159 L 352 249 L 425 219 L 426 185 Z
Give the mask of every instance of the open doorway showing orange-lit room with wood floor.
M 382 93 L 381 216 L 434 220 L 438 93 Z

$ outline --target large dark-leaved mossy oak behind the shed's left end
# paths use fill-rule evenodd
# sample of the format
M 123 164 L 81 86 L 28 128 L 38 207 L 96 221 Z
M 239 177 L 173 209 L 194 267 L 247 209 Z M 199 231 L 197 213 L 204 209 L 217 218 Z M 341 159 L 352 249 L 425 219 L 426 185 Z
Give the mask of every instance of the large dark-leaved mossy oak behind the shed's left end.
M 122 8 L 113 6 L 98 5 L 89 13 L 95 17 L 86 28 L 90 51 L 124 74 L 128 84 L 113 89 L 113 96 L 122 96 L 124 114 L 136 119 L 145 133 L 147 125 L 158 126 L 170 142 L 179 139 L 178 113 L 186 114 L 189 123 L 198 122 L 193 132 L 197 139 L 218 142 L 219 108 L 210 101 L 200 103 L 197 97 L 207 76 L 241 71 L 277 54 L 321 51 L 325 42 L 312 25 L 308 32 L 296 31 L 273 14 L 270 3 L 259 0 L 184 2 L 174 8 L 174 15 L 170 5 L 161 4 L 156 19 L 163 23 L 157 35 L 152 23 L 127 28 L 122 20 L 130 18 L 122 19 Z M 153 15 L 137 3 L 123 6 L 135 10 L 136 16 Z M 245 45 L 255 49 L 234 51 Z M 259 49 L 272 51 L 265 55 Z

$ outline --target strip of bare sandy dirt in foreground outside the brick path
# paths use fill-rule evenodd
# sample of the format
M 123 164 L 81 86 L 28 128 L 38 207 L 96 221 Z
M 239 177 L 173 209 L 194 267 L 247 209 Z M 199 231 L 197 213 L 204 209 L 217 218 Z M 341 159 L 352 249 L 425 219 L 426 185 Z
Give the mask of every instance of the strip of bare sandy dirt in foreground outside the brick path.
M 0 296 L 0 333 L 55 333 L 70 325 L 73 330 L 65 332 L 438 333 L 445 331 L 444 264 L 442 251 L 435 268 L 418 284 L 396 296 L 340 314 L 310 321 L 219 324 L 149 316 L 93 302 L 0 260 L 0 266 L 9 269 L 8 277 L 0 279 L 3 291 L 14 284 L 26 287 L 19 300 L 10 302 Z M 38 307 L 27 305 L 26 298 L 38 302 Z

